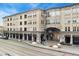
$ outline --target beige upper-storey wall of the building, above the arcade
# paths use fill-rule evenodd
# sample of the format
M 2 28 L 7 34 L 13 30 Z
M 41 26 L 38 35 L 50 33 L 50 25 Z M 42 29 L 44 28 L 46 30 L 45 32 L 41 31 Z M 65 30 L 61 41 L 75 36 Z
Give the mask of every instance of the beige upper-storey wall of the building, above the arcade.
M 73 9 L 76 9 L 77 11 L 75 13 L 73 13 Z M 78 9 L 79 9 L 79 4 L 77 4 L 77 5 L 75 4 L 73 6 L 64 7 L 64 8 L 48 9 L 48 10 L 46 10 L 46 12 L 51 13 L 51 12 L 58 11 L 60 13 L 60 15 L 58 15 L 58 16 L 50 15 L 49 17 L 45 17 L 45 15 L 47 15 L 47 14 L 45 14 L 43 10 L 30 10 L 25 13 L 21 13 L 21 14 L 17 14 L 17 15 L 13 15 L 13 16 L 4 18 L 4 20 L 7 20 L 7 18 L 11 18 L 11 17 L 13 18 L 12 21 L 3 22 L 4 30 L 7 30 L 7 28 L 15 28 L 16 31 L 19 31 L 20 27 L 22 27 L 23 30 L 24 30 L 24 27 L 27 27 L 27 31 L 33 31 L 33 27 L 36 27 L 37 31 L 44 31 L 44 28 L 56 27 L 56 28 L 60 29 L 61 31 L 65 31 L 65 27 L 70 27 L 70 30 L 72 31 L 73 27 L 79 26 L 79 10 Z M 70 10 L 70 14 L 65 14 L 65 11 L 67 11 L 67 10 Z M 23 17 L 24 14 L 27 14 L 27 15 L 36 14 L 37 17 L 24 19 L 24 17 Z M 22 15 L 22 17 L 23 17 L 22 20 L 19 19 L 20 15 Z M 44 15 L 44 16 L 42 17 L 41 15 Z M 45 24 L 47 19 L 48 20 L 49 19 L 50 20 L 58 19 L 58 21 L 60 23 L 59 24 Z M 77 20 L 78 23 L 73 24 L 74 19 Z M 41 20 L 44 20 L 44 24 L 41 24 Z M 70 24 L 66 23 L 66 22 L 68 22 L 68 20 L 70 21 Z M 19 25 L 20 21 L 22 21 L 23 25 Z M 24 21 L 27 21 L 27 22 L 36 21 L 36 24 L 35 25 L 34 24 L 24 25 Z M 7 26 L 7 23 L 13 23 L 13 24 L 15 24 L 15 26 Z M 18 30 L 17 30 L 17 28 L 18 28 Z

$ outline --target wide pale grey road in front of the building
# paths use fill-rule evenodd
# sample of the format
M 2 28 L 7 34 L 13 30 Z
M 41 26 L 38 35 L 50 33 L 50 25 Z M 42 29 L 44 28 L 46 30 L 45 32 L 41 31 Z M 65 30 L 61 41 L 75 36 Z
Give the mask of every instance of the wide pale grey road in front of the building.
M 15 40 L 0 39 L 0 56 L 73 56 L 72 54 L 51 51 L 30 46 Z

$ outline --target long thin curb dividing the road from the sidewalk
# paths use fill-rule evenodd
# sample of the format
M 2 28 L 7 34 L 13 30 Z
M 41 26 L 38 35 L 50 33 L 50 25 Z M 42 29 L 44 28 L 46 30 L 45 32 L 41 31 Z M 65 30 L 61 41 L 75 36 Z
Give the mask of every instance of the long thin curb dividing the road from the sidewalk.
M 46 46 L 36 46 L 36 45 L 32 45 L 30 43 L 27 43 L 27 42 L 24 42 L 30 46 L 33 46 L 33 47 L 37 47 L 37 48 L 42 48 L 42 49 L 47 49 L 47 50 L 52 50 L 52 51 L 57 51 L 57 52 L 61 52 L 61 53 L 67 53 L 67 54 L 72 54 L 74 56 L 79 56 L 79 54 L 75 54 L 75 53 L 71 53 L 71 52 L 66 52 L 66 51 L 61 51 L 61 50 L 57 50 L 57 49 L 53 49 L 53 48 L 50 48 L 50 47 L 46 47 Z

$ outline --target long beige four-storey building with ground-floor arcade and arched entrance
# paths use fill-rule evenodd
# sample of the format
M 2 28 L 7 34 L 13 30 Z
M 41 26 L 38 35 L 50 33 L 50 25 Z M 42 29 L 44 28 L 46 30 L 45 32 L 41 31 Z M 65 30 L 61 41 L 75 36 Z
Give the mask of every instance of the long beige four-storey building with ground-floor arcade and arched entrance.
M 47 39 L 79 44 L 79 4 L 47 10 L 29 10 L 3 19 L 4 35 L 9 38 L 39 43 Z

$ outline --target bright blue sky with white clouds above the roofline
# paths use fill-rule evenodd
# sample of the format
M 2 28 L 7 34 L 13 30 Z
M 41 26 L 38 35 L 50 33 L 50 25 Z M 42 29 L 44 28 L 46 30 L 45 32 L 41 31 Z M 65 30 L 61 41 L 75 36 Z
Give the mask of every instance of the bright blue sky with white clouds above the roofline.
M 3 25 L 2 17 L 21 13 L 31 9 L 48 9 L 54 7 L 63 7 L 71 5 L 70 3 L 0 3 L 0 26 Z

